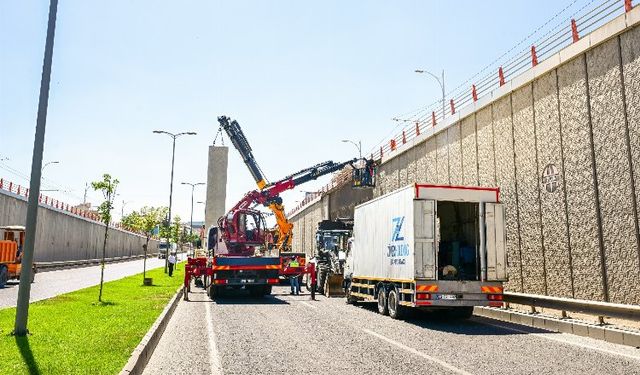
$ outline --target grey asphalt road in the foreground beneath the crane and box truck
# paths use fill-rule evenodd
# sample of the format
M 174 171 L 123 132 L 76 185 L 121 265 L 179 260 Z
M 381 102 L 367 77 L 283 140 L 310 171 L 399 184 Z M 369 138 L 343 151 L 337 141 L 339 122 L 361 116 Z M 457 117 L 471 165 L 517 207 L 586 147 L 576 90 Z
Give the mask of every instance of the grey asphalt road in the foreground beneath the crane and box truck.
M 407 321 L 342 298 L 192 288 L 145 374 L 640 374 L 640 350 L 481 317 Z

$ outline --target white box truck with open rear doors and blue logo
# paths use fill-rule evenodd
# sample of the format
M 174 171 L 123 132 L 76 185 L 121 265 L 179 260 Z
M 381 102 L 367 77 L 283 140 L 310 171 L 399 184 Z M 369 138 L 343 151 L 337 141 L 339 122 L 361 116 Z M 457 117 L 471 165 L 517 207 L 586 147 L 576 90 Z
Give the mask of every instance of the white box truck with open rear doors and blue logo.
M 500 306 L 507 280 L 504 207 L 498 188 L 414 184 L 355 208 L 345 270 L 347 302 L 408 308 Z

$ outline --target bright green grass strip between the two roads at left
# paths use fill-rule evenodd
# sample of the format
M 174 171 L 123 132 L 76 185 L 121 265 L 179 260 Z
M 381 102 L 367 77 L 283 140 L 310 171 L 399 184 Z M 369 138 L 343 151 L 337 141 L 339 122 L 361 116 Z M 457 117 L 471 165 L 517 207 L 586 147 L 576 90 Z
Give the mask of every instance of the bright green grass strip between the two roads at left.
M 108 267 L 108 265 L 107 265 Z M 11 335 L 15 308 L 0 310 L 1 374 L 117 374 L 184 278 L 163 268 L 34 302 L 27 337 Z

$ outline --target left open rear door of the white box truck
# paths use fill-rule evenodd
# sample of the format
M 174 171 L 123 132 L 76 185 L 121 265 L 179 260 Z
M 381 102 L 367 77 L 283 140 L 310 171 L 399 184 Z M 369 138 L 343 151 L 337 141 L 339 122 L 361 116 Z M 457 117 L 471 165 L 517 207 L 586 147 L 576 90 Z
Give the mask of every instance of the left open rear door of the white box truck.
M 436 278 L 436 202 L 415 200 L 413 210 L 416 276 Z

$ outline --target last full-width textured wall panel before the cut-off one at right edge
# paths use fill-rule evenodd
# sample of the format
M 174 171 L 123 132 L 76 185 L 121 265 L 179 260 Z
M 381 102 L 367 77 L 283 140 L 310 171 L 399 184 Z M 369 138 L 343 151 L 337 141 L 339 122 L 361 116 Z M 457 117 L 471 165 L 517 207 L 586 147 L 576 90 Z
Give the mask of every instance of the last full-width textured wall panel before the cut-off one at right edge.
M 629 272 L 639 268 L 638 242 L 617 38 L 587 52 L 587 72 L 609 300 L 639 303 L 640 277 Z

